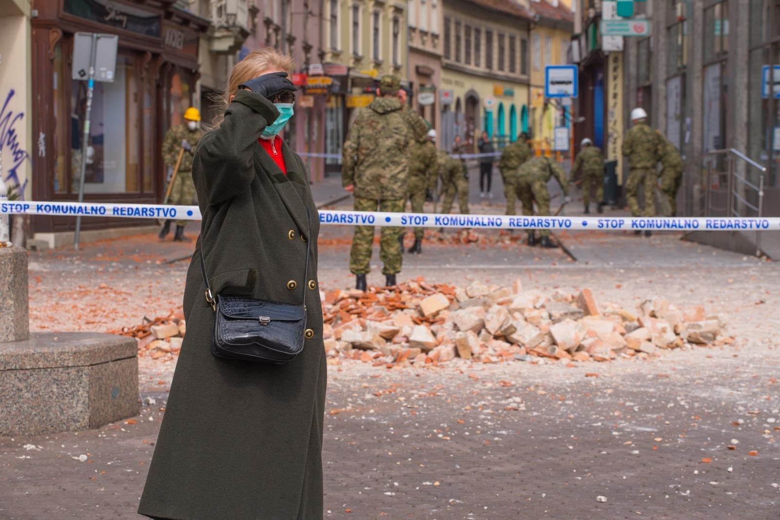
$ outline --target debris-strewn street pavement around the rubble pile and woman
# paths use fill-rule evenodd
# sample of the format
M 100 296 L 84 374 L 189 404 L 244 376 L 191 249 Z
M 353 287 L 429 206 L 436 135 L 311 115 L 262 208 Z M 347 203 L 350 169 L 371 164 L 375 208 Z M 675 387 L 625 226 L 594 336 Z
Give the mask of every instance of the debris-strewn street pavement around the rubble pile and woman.
M 348 238 L 348 228 L 324 228 L 326 289 L 353 283 Z M 577 367 L 328 367 L 326 518 L 780 517 L 777 265 L 672 234 L 562 240 L 580 262 L 517 244 L 427 241 L 423 255 L 406 258 L 403 276 L 589 286 L 597 299 L 631 307 L 660 294 L 727 313 L 736 346 Z M 33 329 L 105 331 L 175 310 L 187 265 L 165 258 L 191 248 L 137 237 L 77 255 L 31 254 Z M 375 269 L 370 281 L 379 276 Z M 47 309 L 52 302 L 61 306 Z M 105 311 L 85 322 L 94 308 Z M 139 518 L 172 368 L 142 364 L 141 392 L 154 404 L 133 420 L 0 437 L 0 518 Z

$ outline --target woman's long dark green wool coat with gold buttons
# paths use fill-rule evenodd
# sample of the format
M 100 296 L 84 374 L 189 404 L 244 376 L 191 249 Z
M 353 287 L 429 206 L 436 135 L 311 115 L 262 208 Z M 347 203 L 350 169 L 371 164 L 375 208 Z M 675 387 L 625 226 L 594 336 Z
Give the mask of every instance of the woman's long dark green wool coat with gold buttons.
M 193 179 L 203 214 L 184 291 L 187 333 L 138 512 L 176 520 L 322 518 L 325 370 L 317 281 L 319 216 L 300 157 L 287 175 L 257 142 L 278 111 L 241 90 L 204 135 Z M 307 209 L 311 214 L 308 229 Z M 309 274 L 304 278 L 307 241 Z M 285 365 L 211 354 L 214 293 L 307 305 L 303 352 Z

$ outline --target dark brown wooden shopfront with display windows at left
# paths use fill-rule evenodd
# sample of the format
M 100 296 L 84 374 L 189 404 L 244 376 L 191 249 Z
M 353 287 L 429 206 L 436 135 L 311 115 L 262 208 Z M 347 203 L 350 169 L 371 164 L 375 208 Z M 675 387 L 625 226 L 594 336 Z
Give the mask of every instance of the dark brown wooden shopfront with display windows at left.
M 198 38 L 208 20 L 171 2 L 34 0 L 34 200 L 78 198 L 87 82 L 72 79 L 73 34 L 119 36 L 113 83 L 96 82 L 87 149 L 84 199 L 161 202 L 165 168 L 161 143 L 196 102 Z M 83 230 L 138 227 L 149 220 L 83 219 Z M 32 233 L 72 231 L 73 217 L 35 216 Z

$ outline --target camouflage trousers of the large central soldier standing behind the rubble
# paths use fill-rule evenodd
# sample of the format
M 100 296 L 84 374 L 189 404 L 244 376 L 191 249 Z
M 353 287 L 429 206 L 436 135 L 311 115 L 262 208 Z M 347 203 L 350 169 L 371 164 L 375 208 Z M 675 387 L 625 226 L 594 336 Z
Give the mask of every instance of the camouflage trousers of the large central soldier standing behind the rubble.
M 424 195 L 423 195 L 424 196 Z M 406 205 L 404 199 L 374 200 L 355 197 L 355 211 L 385 211 L 401 213 Z M 401 272 L 401 244 L 398 237 L 402 227 L 382 227 L 379 239 L 379 258 L 385 267 L 382 273 L 394 275 Z M 374 226 L 356 226 L 352 239 L 352 250 L 349 251 L 349 271 L 355 275 L 366 275 L 371 272 L 371 250 L 374 246 Z

